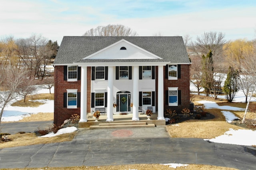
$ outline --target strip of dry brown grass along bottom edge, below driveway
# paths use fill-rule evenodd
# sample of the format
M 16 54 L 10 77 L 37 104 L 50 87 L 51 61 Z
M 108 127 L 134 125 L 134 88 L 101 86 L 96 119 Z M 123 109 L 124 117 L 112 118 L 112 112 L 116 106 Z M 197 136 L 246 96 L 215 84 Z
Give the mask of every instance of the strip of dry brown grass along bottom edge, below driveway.
M 170 168 L 168 165 L 160 164 L 132 164 L 132 165 L 116 165 L 116 166 L 72 166 L 72 167 L 44 167 L 44 168 L 12 168 L 8 170 L 237 170 L 235 168 L 227 168 L 212 165 L 190 164 L 177 168 Z

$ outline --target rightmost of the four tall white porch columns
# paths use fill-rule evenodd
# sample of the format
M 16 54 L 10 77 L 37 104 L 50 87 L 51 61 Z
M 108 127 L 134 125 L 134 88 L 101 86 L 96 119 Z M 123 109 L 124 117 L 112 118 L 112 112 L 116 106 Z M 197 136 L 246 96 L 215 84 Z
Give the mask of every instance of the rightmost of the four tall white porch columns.
M 164 66 L 158 66 L 158 117 L 164 120 Z

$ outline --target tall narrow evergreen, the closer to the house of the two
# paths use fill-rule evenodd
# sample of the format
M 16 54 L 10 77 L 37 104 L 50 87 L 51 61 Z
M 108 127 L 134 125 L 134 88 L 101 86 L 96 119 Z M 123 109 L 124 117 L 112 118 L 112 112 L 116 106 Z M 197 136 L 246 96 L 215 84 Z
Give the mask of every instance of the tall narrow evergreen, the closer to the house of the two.
M 213 79 L 213 59 L 210 50 L 207 56 L 202 55 L 202 87 L 205 89 L 206 96 L 209 96 Z

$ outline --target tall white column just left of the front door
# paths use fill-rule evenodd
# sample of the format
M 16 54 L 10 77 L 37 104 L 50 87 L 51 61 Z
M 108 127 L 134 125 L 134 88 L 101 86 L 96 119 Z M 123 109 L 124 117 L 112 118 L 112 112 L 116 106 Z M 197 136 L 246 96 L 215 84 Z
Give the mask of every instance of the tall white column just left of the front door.
M 107 119 L 106 121 L 114 121 L 113 119 L 113 78 L 114 67 L 108 67 L 108 106 L 107 106 Z

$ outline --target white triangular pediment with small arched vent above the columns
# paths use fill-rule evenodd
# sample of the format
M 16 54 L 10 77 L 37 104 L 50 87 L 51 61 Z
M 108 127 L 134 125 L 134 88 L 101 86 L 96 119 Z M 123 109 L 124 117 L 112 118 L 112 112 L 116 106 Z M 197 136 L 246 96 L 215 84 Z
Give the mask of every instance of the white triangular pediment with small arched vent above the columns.
M 162 59 L 162 58 L 123 39 L 83 59 Z

